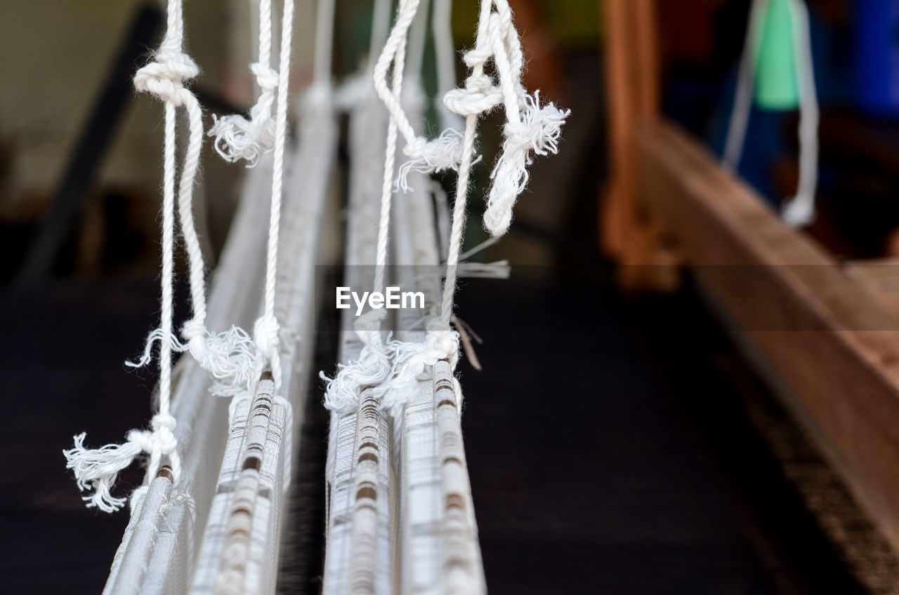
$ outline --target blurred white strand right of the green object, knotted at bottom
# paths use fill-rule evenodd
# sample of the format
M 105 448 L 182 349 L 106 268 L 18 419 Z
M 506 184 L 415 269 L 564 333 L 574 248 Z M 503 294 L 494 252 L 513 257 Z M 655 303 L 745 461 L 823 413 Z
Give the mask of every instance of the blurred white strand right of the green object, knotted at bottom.
M 781 210 L 784 221 L 803 227 L 814 221 L 814 192 L 818 185 L 818 95 L 814 85 L 814 59 L 808 8 L 803 0 L 789 3 L 793 16 L 797 77 L 799 79 L 799 183 L 796 196 Z

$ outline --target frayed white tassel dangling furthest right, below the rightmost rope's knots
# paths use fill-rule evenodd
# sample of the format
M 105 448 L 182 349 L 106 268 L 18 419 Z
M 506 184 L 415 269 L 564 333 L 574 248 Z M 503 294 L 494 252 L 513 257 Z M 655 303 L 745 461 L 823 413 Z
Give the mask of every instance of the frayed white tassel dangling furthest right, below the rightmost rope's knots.
M 571 111 L 551 102 L 541 108 L 539 100 L 539 91 L 533 97 L 525 95 L 521 121 L 505 125 L 503 155 L 490 174 L 494 182 L 484 214 L 484 225 L 494 236 L 505 234 L 512 225 L 512 208 L 528 185 L 533 155 L 558 153 L 562 126 Z

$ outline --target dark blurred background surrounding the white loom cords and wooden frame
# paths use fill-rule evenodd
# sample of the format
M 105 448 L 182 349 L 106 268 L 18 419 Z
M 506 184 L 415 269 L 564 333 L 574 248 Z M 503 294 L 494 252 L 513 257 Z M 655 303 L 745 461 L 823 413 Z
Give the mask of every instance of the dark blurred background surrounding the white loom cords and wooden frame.
M 572 116 L 560 154 L 533 167 L 512 232 L 483 254 L 509 259 L 512 279 L 467 280 L 458 297 L 458 314 L 485 339 L 485 369 L 463 364 L 462 377 L 488 587 L 899 592 L 886 537 L 755 376 L 689 273 L 664 294 L 627 291 L 601 249 L 605 9 L 628 1 L 510 0 L 526 86 Z M 458 49 L 473 43 L 476 4 L 455 2 Z M 807 4 L 822 107 L 819 216 L 807 233 L 839 259 L 899 256 L 899 2 Z M 662 111 L 720 154 L 750 3 L 655 5 Z M 338 6 L 340 81 L 367 48 L 371 2 Z M 184 7 L 204 109 L 246 110 L 252 3 Z M 74 433 L 120 440 L 149 417 L 155 377 L 122 361 L 158 316 L 162 110 L 129 78 L 158 43 L 163 8 L 0 0 L 0 591 L 99 592 L 128 521 L 85 510 L 61 450 Z M 314 14 L 313 0 L 298 0 L 293 89 L 311 80 Z M 752 111 L 740 173 L 772 208 L 796 187 L 797 119 Z M 485 147 L 497 145 L 500 125 L 485 120 Z M 487 151 L 476 170 L 480 188 L 492 160 Z M 227 240 L 244 174 L 207 143 L 198 201 L 209 262 Z M 475 200 L 471 245 L 485 237 L 478 209 Z M 333 260 L 322 264 L 337 265 L 343 238 L 329 241 Z M 320 327 L 316 342 L 330 367 L 334 329 Z M 140 479 L 134 466 L 122 484 Z M 319 553 L 286 555 L 309 560 L 303 592 L 316 592 Z

